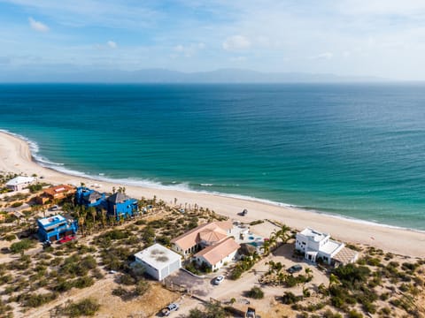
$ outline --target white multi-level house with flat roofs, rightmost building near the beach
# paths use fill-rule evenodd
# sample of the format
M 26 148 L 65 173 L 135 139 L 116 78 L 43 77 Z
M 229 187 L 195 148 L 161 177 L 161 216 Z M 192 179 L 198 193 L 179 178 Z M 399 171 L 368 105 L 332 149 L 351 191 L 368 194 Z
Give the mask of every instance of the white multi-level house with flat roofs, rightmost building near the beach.
M 295 248 L 305 254 L 308 261 L 322 261 L 331 264 L 333 262 L 349 263 L 357 261 L 359 254 L 344 247 L 344 243 L 330 239 L 328 233 L 306 228 L 297 233 Z M 344 250 L 344 258 L 338 257 Z

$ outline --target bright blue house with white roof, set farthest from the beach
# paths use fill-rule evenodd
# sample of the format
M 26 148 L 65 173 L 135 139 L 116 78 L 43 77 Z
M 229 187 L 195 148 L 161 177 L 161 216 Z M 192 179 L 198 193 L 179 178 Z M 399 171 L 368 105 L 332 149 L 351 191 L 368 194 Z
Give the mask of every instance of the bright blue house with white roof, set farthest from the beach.
M 58 240 L 66 235 L 75 234 L 78 230 L 77 221 L 61 215 L 38 219 L 37 225 L 38 235 L 42 241 Z

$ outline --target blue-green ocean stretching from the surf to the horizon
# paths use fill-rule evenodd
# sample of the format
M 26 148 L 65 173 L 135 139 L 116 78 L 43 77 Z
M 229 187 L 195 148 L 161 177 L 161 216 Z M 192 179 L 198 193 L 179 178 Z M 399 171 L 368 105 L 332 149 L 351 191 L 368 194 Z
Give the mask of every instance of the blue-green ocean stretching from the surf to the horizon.
M 0 85 L 46 166 L 425 230 L 425 86 Z

